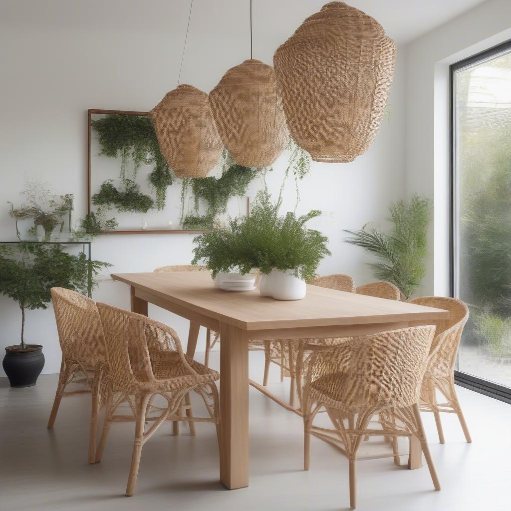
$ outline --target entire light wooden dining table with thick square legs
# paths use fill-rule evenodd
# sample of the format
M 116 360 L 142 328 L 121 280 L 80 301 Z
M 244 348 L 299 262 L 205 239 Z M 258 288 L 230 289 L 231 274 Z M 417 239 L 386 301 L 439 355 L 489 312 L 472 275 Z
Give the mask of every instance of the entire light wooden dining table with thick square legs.
M 147 316 L 151 303 L 190 320 L 188 356 L 195 354 L 200 326 L 220 333 L 220 480 L 230 490 L 248 486 L 249 339 L 353 337 L 449 318 L 441 309 L 312 285 L 295 301 L 263 297 L 257 290 L 222 291 L 207 271 L 111 277 L 130 286 L 133 312 Z M 412 436 L 408 466 L 421 464 L 421 447 Z

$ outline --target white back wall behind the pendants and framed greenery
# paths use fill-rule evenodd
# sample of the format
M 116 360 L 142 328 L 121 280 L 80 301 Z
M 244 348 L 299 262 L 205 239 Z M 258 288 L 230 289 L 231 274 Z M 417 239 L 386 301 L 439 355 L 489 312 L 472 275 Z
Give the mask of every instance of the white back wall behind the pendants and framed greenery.
M 181 83 L 208 92 L 229 67 L 249 56 L 248 2 L 195 0 Z M 289 7 L 289 6 L 288 6 Z M 73 193 L 76 215 L 86 212 L 86 112 L 88 108 L 148 111 L 176 86 L 188 2 L 168 0 L 6 1 L 0 13 L 0 238 L 13 239 L 7 200 L 17 201 L 26 177 L 53 183 L 58 193 Z M 265 0 L 254 3 L 254 58 L 272 63 L 273 52 L 309 14 Z M 268 27 L 265 26 L 268 20 Z M 270 22 L 271 20 L 271 22 Z M 278 22 L 275 22 L 278 20 Z M 399 52 L 398 52 L 399 54 Z M 365 255 L 342 242 L 343 228 L 380 221 L 387 204 L 404 193 L 404 59 L 396 77 L 382 129 L 374 145 L 352 164 L 314 163 L 301 185 L 300 212 L 328 212 L 316 221 L 330 237 L 333 256 L 320 272 L 352 274 L 370 280 Z M 269 173 L 275 190 L 284 161 Z M 289 183 L 286 203 L 292 204 Z M 95 259 L 111 271 L 152 271 L 191 260 L 191 235 L 104 236 L 92 246 Z M 94 298 L 129 307 L 128 288 L 102 282 Z M 150 315 L 168 322 L 185 341 L 187 322 L 165 311 Z M 0 297 L 0 346 L 18 342 L 19 309 Z M 203 350 L 203 337 L 198 349 Z M 44 345 L 44 371 L 60 363 L 51 307 L 29 311 L 26 340 Z

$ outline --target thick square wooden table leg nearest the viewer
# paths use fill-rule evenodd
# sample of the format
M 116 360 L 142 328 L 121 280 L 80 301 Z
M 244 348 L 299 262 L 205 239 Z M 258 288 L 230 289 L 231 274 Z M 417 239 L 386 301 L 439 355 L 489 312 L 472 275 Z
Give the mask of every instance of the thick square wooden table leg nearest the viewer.
M 248 486 L 248 334 L 220 324 L 220 480 Z

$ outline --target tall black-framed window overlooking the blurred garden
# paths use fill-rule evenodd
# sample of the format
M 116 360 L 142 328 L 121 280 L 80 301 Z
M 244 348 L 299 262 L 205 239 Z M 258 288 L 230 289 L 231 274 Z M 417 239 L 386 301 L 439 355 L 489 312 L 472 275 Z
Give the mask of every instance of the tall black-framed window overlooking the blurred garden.
M 457 368 L 502 391 L 511 389 L 511 43 L 451 73 L 453 290 L 470 308 Z

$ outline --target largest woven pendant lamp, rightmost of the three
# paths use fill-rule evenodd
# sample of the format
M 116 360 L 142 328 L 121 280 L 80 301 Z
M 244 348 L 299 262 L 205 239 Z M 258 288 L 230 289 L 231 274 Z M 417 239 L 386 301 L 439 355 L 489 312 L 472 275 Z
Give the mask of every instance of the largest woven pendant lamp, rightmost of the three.
M 279 47 L 273 65 L 292 137 L 315 161 L 353 161 L 378 132 L 396 44 L 367 14 L 330 2 Z

